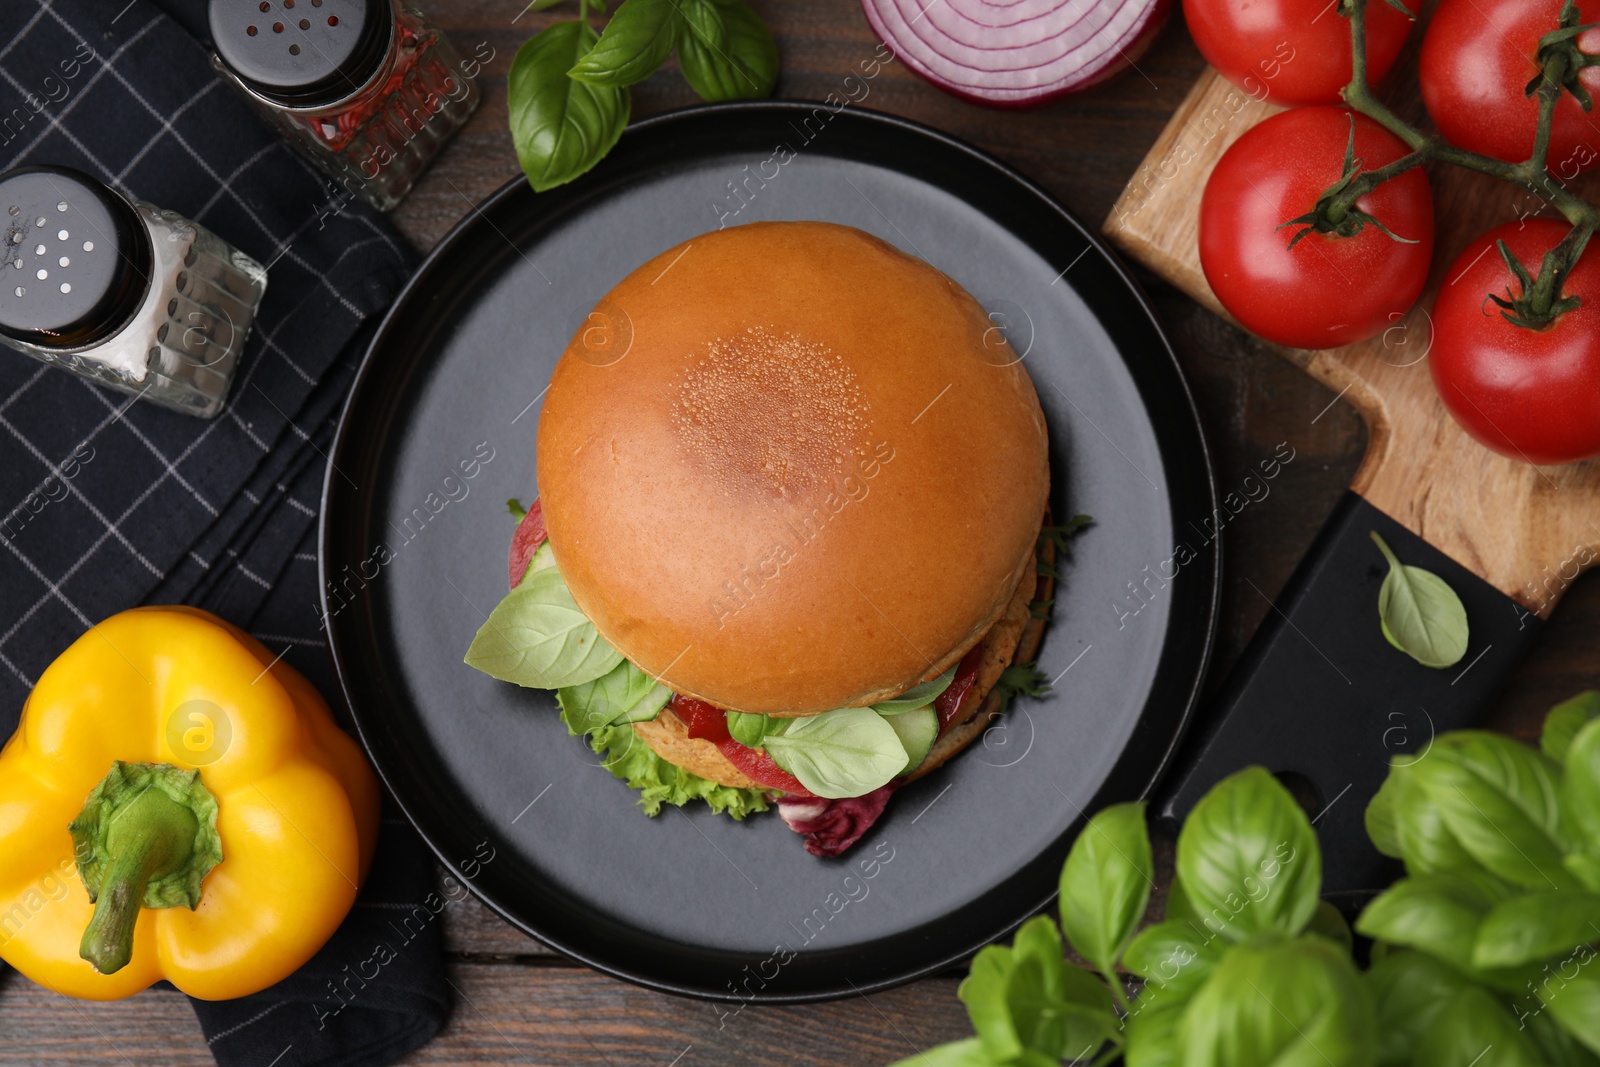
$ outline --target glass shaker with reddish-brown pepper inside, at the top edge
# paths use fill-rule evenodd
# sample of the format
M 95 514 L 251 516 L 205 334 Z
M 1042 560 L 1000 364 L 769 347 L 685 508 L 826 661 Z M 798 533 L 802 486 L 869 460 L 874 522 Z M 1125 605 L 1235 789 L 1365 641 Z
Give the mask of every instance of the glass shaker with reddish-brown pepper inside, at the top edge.
M 218 70 L 379 211 L 478 106 L 459 53 L 400 0 L 211 0 L 210 19 Z

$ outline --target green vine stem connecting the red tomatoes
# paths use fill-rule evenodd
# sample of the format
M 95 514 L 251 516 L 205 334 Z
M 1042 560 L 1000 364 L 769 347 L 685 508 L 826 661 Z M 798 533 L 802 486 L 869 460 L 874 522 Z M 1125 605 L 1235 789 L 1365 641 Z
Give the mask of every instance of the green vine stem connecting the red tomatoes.
M 1450 144 L 1442 138 L 1430 138 L 1411 123 L 1400 118 L 1373 93 L 1366 74 L 1366 5 L 1370 0 L 1339 0 L 1339 14 L 1350 21 L 1350 83 L 1344 86 L 1344 102 L 1355 112 L 1366 115 L 1389 133 L 1400 138 L 1410 154 L 1400 157 L 1387 166 L 1371 171 L 1344 174 L 1318 198 L 1312 213 L 1302 218 L 1315 218 L 1322 232 L 1339 234 L 1339 224 L 1355 213 L 1357 202 L 1374 190 L 1382 182 L 1403 174 L 1422 163 L 1450 163 L 1466 170 L 1499 178 L 1528 189 L 1531 194 L 1549 203 L 1571 222 L 1573 230 L 1555 248 L 1546 253 L 1539 264 L 1538 278 L 1528 278 L 1520 264 L 1501 248 L 1514 277 L 1522 285 L 1522 293 L 1507 293 L 1507 298 L 1493 296 L 1501 306 L 1507 322 L 1539 330 L 1550 325 L 1562 312 L 1576 307 L 1574 298 L 1562 296 L 1562 280 L 1571 274 L 1589 243 L 1589 237 L 1600 229 L 1600 208 L 1582 197 L 1573 194 L 1562 181 L 1549 171 L 1550 128 L 1555 122 L 1555 106 L 1562 93 L 1573 96 L 1589 110 L 1592 101 L 1589 93 L 1578 83 L 1578 72 L 1584 67 L 1600 64 L 1600 56 L 1589 56 L 1578 50 L 1578 35 L 1590 26 L 1578 24 L 1576 0 L 1565 0 L 1557 27 L 1539 40 L 1538 59 L 1541 72 L 1528 83 L 1526 93 L 1539 98 L 1539 123 L 1533 141 L 1533 155 L 1522 163 L 1469 152 Z M 1366 216 L 1370 218 L 1370 216 Z M 1386 230 L 1387 232 L 1387 230 Z

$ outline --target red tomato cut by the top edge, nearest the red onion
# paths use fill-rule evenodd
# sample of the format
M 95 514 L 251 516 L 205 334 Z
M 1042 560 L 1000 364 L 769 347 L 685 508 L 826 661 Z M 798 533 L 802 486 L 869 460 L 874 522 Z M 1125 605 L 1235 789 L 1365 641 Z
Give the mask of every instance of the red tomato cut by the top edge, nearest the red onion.
M 1414 13 L 1421 0 L 1405 0 Z M 1350 21 L 1333 0 L 1184 0 L 1189 32 L 1218 72 L 1274 104 L 1338 104 L 1350 82 Z M 1366 5 L 1366 77 L 1376 85 L 1411 34 L 1386 0 Z M 1526 82 L 1526 78 L 1523 78 Z

